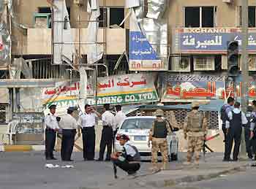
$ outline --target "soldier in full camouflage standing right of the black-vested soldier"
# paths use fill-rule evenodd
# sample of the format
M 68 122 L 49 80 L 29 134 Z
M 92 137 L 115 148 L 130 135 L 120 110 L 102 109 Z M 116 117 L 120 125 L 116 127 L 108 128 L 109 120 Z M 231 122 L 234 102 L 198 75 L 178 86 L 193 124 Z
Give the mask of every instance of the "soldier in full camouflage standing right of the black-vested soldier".
M 192 111 L 188 113 L 184 122 L 184 138 L 188 139 L 187 163 L 185 164 L 188 165 L 192 162 L 193 153 L 195 153 L 195 164 L 199 164 L 200 152 L 207 134 L 206 117 L 198 109 L 199 104 L 192 103 Z

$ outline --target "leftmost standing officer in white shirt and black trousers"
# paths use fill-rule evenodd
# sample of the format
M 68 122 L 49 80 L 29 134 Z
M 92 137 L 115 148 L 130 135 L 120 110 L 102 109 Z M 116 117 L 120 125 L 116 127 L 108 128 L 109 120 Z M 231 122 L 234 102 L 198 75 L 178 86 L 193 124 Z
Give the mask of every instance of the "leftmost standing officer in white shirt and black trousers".
M 56 160 L 53 150 L 56 142 L 56 131 L 59 130 L 59 117 L 56 117 L 56 105 L 48 107 L 50 113 L 45 116 L 45 158 L 46 160 Z M 58 121 L 57 121 L 58 120 Z

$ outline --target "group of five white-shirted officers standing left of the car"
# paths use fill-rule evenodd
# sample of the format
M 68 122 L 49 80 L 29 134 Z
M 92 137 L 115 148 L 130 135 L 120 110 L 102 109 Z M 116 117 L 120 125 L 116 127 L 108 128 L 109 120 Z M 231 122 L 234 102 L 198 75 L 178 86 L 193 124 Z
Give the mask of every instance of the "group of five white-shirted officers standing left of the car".
M 83 135 L 83 159 L 85 161 L 94 161 L 95 153 L 95 126 L 97 118 L 102 120 L 102 138 L 99 146 L 99 159 L 103 161 L 105 148 L 108 148 L 105 161 L 110 161 L 112 152 L 113 136 L 116 134 L 116 128 L 125 119 L 121 106 L 116 106 L 116 116 L 110 112 L 110 104 L 104 104 L 104 113 L 101 115 L 89 104 L 85 106 L 85 112 L 79 116 L 78 121 L 73 117 L 76 107 L 69 107 L 67 115 L 56 116 L 56 105 L 50 105 L 50 113 L 45 116 L 45 158 L 46 160 L 56 160 L 53 156 L 53 150 L 56 142 L 56 133 L 62 134 L 61 140 L 61 160 L 72 161 L 71 155 L 75 144 L 75 135 L 80 136 L 80 130 Z

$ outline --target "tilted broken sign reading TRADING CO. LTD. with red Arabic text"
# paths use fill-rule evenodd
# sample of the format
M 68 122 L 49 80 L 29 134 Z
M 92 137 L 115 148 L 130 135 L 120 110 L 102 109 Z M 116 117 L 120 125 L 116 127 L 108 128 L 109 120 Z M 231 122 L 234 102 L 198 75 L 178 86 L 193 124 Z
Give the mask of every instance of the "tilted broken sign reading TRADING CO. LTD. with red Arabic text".
M 154 74 L 125 74 L 113 77 L 99 77 L 97 104 L 138 104 L 159 101 L 157 90 L 154 87 Z M 92 84 L 87 85 L 89 96 L 93 96 Z M 56 88 L 42 90 L 42 104 L 57 104 L 58 107 L 72 107 L 78 104 L 79 82 L 59 82 Z M 95 105 L 93 98 L 88 103 Z

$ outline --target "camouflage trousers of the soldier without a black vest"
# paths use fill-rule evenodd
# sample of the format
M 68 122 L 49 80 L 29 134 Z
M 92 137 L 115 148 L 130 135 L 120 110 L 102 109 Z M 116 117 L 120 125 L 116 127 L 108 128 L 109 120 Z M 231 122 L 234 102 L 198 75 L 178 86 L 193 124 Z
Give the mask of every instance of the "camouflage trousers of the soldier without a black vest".
M 192 156 L 195 153 L 195 161 L 199 161 L 200 152 L 203 148 L 204 136 L 189 136 L 187 144 L 187 161 L 192 161 Z

